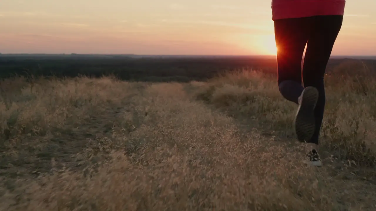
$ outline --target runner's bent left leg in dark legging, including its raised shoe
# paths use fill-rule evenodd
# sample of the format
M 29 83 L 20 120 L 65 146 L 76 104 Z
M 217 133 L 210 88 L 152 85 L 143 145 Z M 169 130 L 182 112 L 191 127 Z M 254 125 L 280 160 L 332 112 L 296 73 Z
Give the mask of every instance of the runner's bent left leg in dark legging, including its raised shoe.
M 314 18 L 291 18 L 274 22 L 276 36 L 278 85 L 284 98 L 299 104 L 294 120 L 301 142 L 311 139 L 315 131 L 314 109 L 318 98 L 315 87 L 302 86 L 302 56 Z

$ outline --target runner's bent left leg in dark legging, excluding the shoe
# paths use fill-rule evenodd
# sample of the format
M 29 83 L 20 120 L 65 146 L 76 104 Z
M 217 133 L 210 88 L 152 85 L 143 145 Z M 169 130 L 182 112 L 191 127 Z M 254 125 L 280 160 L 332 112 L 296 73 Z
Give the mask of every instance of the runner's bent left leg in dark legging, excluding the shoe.
M 303 92 L 302 57 L 308 41 L 310 18 L 289 18 L 274 21 L 279 91 L 298 104 Z

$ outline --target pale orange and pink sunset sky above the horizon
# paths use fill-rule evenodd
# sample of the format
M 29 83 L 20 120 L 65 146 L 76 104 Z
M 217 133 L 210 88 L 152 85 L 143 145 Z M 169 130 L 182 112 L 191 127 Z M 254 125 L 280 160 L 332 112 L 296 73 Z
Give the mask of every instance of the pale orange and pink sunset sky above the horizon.
M 347 0 L 333 55 L 376 55 L 375 0 Z M 0 53 L 275 54 L 271 0 L 0 0 Z

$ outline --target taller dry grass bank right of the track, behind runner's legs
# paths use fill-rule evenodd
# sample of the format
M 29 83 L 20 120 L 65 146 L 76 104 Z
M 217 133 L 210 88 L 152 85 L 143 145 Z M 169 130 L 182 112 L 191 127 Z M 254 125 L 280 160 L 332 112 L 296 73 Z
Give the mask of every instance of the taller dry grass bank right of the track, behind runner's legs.
M 341 159 L 357 164 L 376 164 L 376 80 L 327 79 L 326 114 L 321 144 Z M 251 116 L 265 130 L 280 137 L 294 137 L 291 120 L 296 105 L 282 98 L 276 78 L 259 71 L 239 71 L 215 78 L 201 88 L 198 99 L 230 110 L 232 115 Z

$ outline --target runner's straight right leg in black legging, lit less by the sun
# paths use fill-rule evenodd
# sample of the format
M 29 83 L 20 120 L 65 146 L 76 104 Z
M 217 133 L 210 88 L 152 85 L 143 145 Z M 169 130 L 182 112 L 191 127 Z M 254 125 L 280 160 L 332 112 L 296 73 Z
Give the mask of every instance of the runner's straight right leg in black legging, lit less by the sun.
M 318 100 L 314 110 L 315 132 L 308 143 L 318 145 L 321 123 L 324 116 L 325 90 L 324 74 L 332 53 L 334 42 L 342 26 L 343 16 L 316 16 L 309 33 L 307 50 L 303 63 L 303 83 L 318 90 Z M 314 147 L 314 146 L 312 146 Z M 317 147 L 317 146 L 316 146 Z M 317 148 L 316 148 L 317 149 Z

